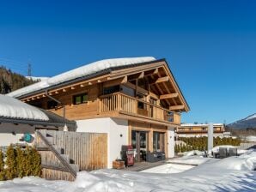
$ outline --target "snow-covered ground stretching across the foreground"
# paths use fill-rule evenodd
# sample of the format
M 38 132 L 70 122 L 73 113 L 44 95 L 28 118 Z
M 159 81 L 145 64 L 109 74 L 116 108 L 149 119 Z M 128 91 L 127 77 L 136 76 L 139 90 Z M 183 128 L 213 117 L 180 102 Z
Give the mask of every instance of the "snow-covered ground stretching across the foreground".
M 76 181 L 46 181 L 39 177 L 25 177 L 0 182 L 0 191 L 30 192 L 82 192 L 82 191 L 255 191 L 256 151 L 250 150 L 240 157 L 203 159 L 186 156 L 176 162 L 200 165 L 179 173 L 146 173 L 100 170 L 78 173 Z M 160 172 L 161 167 L 155 168 Z

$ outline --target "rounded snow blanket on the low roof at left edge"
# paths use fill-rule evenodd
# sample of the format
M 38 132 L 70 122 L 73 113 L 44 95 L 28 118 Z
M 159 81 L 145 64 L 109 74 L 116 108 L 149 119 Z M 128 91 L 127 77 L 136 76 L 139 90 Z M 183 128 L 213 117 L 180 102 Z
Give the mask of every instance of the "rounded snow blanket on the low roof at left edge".
M 18 99 L 0 94 L 0 117 L 48 121 L 46 114 Z

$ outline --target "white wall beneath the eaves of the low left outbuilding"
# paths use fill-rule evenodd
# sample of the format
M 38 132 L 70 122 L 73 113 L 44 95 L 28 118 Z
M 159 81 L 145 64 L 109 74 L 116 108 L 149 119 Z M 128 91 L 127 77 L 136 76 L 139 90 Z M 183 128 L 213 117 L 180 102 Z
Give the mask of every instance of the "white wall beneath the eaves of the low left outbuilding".
M 14 123 L 0 123 L 0 146 L 26 143 L 25 141 L 20 141 L 24 133 L 29 133 L 34 136 L 34 127 L 26 124 L 15 125 Z

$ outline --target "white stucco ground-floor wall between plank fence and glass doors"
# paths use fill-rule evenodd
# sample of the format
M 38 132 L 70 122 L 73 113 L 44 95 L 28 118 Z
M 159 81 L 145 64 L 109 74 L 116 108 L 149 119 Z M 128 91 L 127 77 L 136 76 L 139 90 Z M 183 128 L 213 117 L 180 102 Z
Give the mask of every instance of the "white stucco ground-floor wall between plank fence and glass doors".
M 107 117 L 78 120 L 76 124 L 76 132 L 107 133 L 107 168 L 112 168 L 122 145 L 128 145 L 128 120 Z

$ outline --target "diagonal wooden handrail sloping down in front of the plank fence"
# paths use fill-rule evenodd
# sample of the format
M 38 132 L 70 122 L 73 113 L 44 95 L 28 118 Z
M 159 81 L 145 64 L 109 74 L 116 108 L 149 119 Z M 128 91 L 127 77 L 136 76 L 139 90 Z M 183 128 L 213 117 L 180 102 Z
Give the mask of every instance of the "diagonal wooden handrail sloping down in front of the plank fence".
M 64 159 L 64 158 L 58 153 L 58 151 L 49 143 L 49 141 L 47 141 L 46 137 L 45 137 L 44 135 L 42 135 L 42 133 L 40 132 L 40 130 L 37 130 L 36 133 L 37 133 L 38 135 L 40 135 L 41 140 L 45 142 L 46 146 L 51 149 L 52 153 L 54 153 L 54 154 L 56 155 L 56 157 L 58 158 L 58 160 L 70 171 L 71 175 L 76 178 L 76 171 L 73 169 L 72 166 L 70 166 L 70 164 L 66 161 L 66 159 Z

